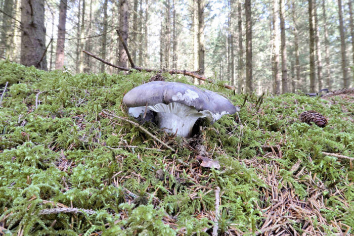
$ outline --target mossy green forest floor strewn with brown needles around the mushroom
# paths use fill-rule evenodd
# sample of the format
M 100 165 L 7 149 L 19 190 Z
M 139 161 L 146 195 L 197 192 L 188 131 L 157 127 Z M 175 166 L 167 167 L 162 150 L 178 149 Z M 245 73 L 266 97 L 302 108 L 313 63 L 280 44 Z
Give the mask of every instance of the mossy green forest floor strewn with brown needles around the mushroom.
M 241 111 L 181 138 L 129 122 L 124 93 L 153 75 L 0 62 L 0 235 L 354 233 L 353 93 L 257 97 L 204 84 Z M 309 110 L 328 125 L 301 123 Z

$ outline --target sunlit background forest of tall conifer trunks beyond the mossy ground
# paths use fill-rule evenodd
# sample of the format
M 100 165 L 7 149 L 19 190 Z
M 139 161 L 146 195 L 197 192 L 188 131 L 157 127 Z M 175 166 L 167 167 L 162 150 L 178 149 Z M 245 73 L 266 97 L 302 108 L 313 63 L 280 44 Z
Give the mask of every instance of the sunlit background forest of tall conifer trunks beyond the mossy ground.
M 229 81 L 238 92 L 242 87 L 316 92 L 353 83 L 350 0 L 23 0 L 22 5 L 21 18 L 21 1 L 0 2 L 0 56 L 40 69 L 117 73 L 81 51 L 127 67 L 119 28 L 138 66 L 199 70 Z M 40 35 L 25 33 L 31 19 L 45 27 Z M 33 38 L 40 43 L 29 56 L 24 51 L 30 46 L 24 45 Z

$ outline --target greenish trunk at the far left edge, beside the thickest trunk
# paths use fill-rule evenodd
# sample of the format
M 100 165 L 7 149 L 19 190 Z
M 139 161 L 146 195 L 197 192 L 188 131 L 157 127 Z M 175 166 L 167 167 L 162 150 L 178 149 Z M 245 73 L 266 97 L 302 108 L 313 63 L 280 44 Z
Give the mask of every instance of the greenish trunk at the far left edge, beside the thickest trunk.
M 11 51 L 11 42 L 13 38 L 12 34 L 12 16 L 13 13 L 13 0 L 5 0 L 4 2 L 4 14 L 3 14 L 3 32 L 1 36 L 1 43 L 0 43 L 0 56 L 9 57 Z M 5 14 L 6 13 L 6 14 Z M 4 48 L 3 48 L 4 47 Z

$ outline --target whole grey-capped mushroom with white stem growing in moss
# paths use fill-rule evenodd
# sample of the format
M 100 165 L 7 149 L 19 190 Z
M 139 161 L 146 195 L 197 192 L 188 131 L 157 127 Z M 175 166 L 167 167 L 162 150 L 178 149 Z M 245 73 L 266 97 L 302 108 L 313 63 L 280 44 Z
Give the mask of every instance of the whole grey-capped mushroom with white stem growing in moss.
M 123 104 L 135 118 L 155 112 L 159 128 L 183 137 L 190 137 L 199 118 L 207 117 L 214 123 L 223 115 L 240 111 L 216 92 L 165 81 L 153 81 L 131 89 L 123 97 Z

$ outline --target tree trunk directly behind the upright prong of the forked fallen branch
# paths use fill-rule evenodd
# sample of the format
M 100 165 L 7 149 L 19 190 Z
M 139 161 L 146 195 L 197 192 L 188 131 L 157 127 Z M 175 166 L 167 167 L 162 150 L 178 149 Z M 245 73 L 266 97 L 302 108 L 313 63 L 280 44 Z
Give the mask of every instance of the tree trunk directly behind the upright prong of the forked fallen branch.
M 121 0 L 119 2 L 119 27 L 122 33 L 122 37 L 126 43 L 128 43 L 128 30 L 129 30 L 129 11 L 128 11 L 128 1 Z M 124 50 L 124 47 L 120 40 L 119 43 L 119 62 L 118 66 L 128 67 L 128 56 Z

